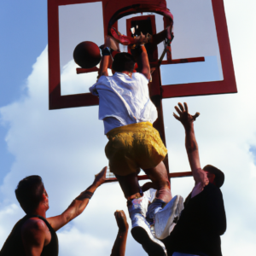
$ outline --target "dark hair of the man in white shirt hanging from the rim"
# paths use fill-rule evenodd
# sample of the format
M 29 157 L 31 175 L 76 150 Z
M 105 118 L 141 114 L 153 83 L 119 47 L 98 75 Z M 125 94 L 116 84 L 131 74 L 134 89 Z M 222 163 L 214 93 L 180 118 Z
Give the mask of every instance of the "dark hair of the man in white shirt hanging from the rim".
M 126 52 L 121 52 L 113 57 L 112 69 L 115 72 L 133 72 L 136 61 L 134 57 Z

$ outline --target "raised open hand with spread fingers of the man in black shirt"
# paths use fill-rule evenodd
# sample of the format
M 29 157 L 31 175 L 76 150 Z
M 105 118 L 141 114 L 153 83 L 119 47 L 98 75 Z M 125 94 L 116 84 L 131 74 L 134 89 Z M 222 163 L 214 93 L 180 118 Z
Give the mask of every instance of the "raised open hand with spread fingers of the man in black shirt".
M 177 105 L 179 108 L 177 108 L 177 106 L 175 106 L 174 108 L 176 109 L 179 116 L 177 116 L 176 113 L 173 113 L 173 116 L 177 120 L 179 120 L 185 128 L 188 127 L 189 125 L 191 125 L 195 121 L 195 119 L 197 117 L 199 117 L 199 115 L 200 115 L 200 113 L 198 113 L 198 112 L 196 112 L 195 115 L 189 114 L 189 108 L 188 108 L 188 105 L 186 102 L 184 102 L 185 109 L 183 108 L 182 103 L 178 102 Z

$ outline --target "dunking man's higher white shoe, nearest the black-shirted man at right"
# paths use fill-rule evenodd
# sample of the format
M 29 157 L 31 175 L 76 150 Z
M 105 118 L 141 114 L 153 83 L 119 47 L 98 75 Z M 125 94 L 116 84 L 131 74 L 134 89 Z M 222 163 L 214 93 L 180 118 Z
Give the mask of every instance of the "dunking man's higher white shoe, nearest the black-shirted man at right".
M 166 207 L 154 214 L 155 237 L 164 239 L 169 236 L 183 210 L 183 197 L 176 195 L 166 204 Z

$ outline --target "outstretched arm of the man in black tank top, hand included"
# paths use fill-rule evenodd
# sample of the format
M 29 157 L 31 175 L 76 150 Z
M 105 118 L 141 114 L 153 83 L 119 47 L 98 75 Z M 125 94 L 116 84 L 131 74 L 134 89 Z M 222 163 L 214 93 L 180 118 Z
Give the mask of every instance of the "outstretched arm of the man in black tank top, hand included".
M 96 177 L 94 182 L 90 185 L 90 187 L 84 192 L 82 192 L 77 198 L 73 200 L 71 205 L 67 207 L 67 210 L 63 212 L 61 215 L 47 218 L 49 224 L 52 226 L 52 228 L 56 231 L 61 229 L 64 225 L 66 225 L 68 222 L 73 220 L 73 218 L 76 218 L 79 216 L 82 212 L 84 212 L 85 207 L 87 207 L 89 203 L 89 198 L 88 195 L 90 193 L 94 193 L 95 190 L 105 182 L 106 180 L 106 172 L 107 172 L 107 167 L 104 167 L 102 169 L 102 172 L 99 172 Z M 89 192 L 89 193 L 88 193 Z

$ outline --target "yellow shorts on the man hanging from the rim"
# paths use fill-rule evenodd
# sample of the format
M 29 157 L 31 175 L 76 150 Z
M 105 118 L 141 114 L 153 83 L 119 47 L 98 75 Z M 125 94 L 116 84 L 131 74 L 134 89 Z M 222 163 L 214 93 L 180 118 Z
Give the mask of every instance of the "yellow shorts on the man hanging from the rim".
M 155 167 L 167 154 L 159 132 L 149 122 L 114 128 L 107 137 L 105 153 L 110 172 L 119 176 Z

